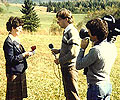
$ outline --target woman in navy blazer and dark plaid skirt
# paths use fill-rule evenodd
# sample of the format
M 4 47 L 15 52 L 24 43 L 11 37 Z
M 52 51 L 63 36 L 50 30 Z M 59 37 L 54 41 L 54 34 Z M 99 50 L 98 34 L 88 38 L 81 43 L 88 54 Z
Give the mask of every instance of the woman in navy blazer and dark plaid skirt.
M 6 100 L 23 100 L 23 98 L 27 98 L 26 58 L 33 55 L 33 53 L 25 52 L 18 38 L 23 25 L 22 19 L 13 16 L 6 23 L 9 32 L 3 45 L 7 76 Z

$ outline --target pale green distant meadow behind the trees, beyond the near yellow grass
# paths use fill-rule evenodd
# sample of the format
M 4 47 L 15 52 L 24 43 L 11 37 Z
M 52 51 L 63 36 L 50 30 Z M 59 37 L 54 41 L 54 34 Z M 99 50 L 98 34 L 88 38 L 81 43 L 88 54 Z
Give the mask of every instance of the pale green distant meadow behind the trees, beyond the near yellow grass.
M 2 8 L 4 8 L 4 13 L 0 14 L 0 30 L 2 32 L 5 32 L 6 30 L 6 22 L 10 16 L 22 16 L 22 13 L 20 10 L 22 9 L 22 6 L 20 4 L 10 4 L 8 7 L 6 7 L 3 4 L 0 4 Z M 35 7 L 36 13 L 38 17 L 40 18 L 40 25 L 41 27 L 38 28 L 38 33 L 39 34 L 48 34 L 49 33 L 49 28 L 53 22 L 53 19 L 55 18 L 56 14 L 55 13 L 48 13 L 46 11 L 46 7 Z M 85 17 L 85 14 L 73 14 L 74 17 L 74 24 L 77 25 L 78 22 L 82 21 L 83 18 Z M 43 32 L 43 33 L 40 33 Z M 4 33 L 3 33 L 4 34 Z

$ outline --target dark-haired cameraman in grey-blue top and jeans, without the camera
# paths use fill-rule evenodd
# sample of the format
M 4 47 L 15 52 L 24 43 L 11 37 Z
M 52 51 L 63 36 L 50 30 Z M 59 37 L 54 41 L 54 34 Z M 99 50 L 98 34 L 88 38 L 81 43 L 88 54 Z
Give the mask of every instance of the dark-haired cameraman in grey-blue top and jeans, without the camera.
M 89 40 L 81 41 L 76 68 L 78 70 L 88 68 L 87 100 L 110 100 L 112 92 L 110 71 L 117 56 L 116 46 L 112 42 L 107 42 L 108 24 L 106 21 L 96 18 L 88 21 L 86 27 L 94 45 L 84 56 Z

